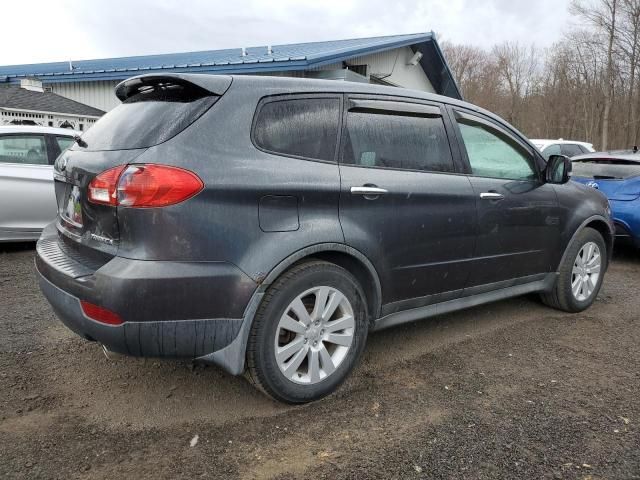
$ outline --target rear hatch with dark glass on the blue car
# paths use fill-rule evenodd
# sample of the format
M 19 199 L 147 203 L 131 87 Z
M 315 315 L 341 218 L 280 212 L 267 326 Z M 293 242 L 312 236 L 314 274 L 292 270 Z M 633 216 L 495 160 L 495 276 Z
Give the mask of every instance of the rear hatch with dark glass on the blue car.
M 572 178 L 600 190 L 609 200 L 640 196 L 640 159 L 584 158 L 573 160 Z

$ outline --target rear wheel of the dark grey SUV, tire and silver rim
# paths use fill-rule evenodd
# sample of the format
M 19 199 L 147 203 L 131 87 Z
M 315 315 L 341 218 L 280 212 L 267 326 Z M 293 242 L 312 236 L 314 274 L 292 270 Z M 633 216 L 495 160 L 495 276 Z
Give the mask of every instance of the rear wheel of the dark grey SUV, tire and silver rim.
M 364 299 L 358 281 L 344 268 L 323 261 L 292 267 L 269 287 L 256 313 L 247 343 L 249 381 L 273 399 L 292 404 L 335 391 L 358 362 L 367 340 Z M 316 315 L 319 305 L 330 312 L 334 304 L 328 318 Z M 338 319 L 340 324 L 335 323 Z M 287 360 L 290 352 L 295 353 Z

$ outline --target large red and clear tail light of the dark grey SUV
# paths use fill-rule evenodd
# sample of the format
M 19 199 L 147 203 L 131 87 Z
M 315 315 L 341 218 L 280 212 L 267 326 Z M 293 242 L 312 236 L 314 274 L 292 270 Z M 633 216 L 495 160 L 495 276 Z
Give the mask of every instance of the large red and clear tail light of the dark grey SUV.
M 89 184 L 89 201 L 102 205 L 154 208 L 183 202 L 204 188 L 193 172 L 168 165 L 121 165 Z

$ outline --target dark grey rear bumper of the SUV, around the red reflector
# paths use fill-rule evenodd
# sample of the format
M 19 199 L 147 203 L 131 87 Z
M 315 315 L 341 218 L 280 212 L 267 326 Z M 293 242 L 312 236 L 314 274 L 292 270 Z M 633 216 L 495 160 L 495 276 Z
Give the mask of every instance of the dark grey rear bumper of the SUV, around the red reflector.
M 113 257 L 100 265 L 56 248 L 55 227 L 38 241 L 40 288 L 62 322 L 109 350 L 135 356 L 197 358 L 237 337 L 257 285 L 225 262 L 155 262 Z M 87 317 L 85 300 L 122 325 Z

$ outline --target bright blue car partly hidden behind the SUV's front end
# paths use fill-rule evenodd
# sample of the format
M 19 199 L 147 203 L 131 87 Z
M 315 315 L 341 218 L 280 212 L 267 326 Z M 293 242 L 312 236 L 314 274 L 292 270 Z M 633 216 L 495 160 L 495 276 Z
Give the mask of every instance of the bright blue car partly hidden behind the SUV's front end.
M 573 180 L 600 190 L 609 199 L 616 238 L 640 248 L 640 153 L 596 152 L 571 160 Z

